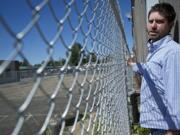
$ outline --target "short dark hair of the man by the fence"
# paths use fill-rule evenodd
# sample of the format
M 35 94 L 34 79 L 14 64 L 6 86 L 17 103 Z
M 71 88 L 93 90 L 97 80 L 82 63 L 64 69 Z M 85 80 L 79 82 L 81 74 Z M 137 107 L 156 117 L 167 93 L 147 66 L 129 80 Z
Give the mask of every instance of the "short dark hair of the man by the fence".
M 148 13 L 148 18 L 152 12 L 159 12 L 159 14 L 164 16 L 169 23 L 173 22 L 176 18 L 176 12 L 174 11 L 173 6 L 169 3 L 158 3 L 152 6 Z

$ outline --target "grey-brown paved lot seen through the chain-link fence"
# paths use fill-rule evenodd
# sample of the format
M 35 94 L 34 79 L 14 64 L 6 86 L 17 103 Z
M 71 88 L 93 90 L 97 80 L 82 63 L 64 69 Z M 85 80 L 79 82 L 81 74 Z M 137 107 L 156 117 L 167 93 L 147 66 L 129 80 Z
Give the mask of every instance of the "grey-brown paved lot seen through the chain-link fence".
M 81 83 L 83 78 L 84 76 L 79 76 L 78 82 Z M 67 75 L 64 78 L 60 91 L 55 98 L 56 107 L 53 112 L 51 119 L 52 121 L 55 119 L 57 120 L 58 116 L 60 116 L 65 110 L 69 99 L 68 89 L 73 84 L 73 80 L 74 77 L 72 75 Z M 32 135 L 39 131 L 49 111 L 49 97 L 54 92 L 58 82 L 59 78 L 55 76 L 49 76 L 42 80 L 40 83 L 41 85 L 38 87 L 30 106 L 25 111 L 25 123 L 23 124 L 21 134 Z M 32 79 L 27 79 L 21 82 L 0 85 L 0 135 L 9 135 L 12 132 L 17 122 L 18 108 L 25 101 L 34 84 L 35 82 Z M 88 83 L 84 88 L 86 90 L 81 104 L 81 113 L 84 112 L 85 98 L 88 94 Z M 70 117 L 75 115 L 75 105 L 78 103 L 80 97 L 80 87 L 77 85 L 77 83 L 72 94 L 73 102 L 68 112 L 68 116 Z

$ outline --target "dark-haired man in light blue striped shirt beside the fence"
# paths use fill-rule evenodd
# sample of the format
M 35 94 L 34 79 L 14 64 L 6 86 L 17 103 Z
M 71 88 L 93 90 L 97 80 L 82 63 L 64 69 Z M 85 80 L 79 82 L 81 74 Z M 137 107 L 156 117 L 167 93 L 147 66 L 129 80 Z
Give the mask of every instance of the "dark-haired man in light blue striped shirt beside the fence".
M 148 14 L 148 55 L 145 63 L 127 64 L 142 75 L 140 124 L 151 135 L 180 135 L 180 45 L 169 34 L 176 13 L 168 3 Z

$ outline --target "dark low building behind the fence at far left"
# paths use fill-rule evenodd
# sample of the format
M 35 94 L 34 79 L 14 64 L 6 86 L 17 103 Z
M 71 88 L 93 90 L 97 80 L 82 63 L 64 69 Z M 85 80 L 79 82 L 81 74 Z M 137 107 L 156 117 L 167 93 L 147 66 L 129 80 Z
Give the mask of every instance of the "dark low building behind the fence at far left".
M 5 62 L 5 60 L 0 60 L 0 65 Z M 0 84 L 16 82 L 20 80 L 19 74 L 19 61 L 11 61 L 9 66 L 0 75 Z

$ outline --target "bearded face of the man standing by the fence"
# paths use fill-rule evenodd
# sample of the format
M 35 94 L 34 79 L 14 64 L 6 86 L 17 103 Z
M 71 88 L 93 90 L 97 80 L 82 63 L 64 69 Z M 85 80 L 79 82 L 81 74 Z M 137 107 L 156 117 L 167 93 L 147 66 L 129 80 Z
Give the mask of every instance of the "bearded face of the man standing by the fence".
M 167 35 L 171 30 L 172 24 L 160 15 L 158 12 L 152 12 L 149 15 L 147 23 L 147 31 L 149 39 L 157 41 Z

